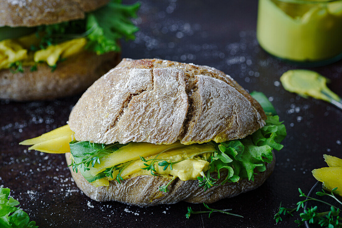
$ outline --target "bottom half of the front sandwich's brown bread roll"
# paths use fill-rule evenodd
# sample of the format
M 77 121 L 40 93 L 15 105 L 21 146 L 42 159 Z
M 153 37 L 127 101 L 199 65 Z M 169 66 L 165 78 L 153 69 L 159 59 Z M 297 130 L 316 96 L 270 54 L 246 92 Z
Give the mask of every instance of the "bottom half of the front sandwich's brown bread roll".
M 70 153 L 65 154 L 67 164 L 71 164 Z M 136 176 L 123 180 L 119 184 L 116 180 L 109 181 L 109 186 L 94 187 L 80 173 L 75 173 L 69 166 L 71 175 L 75 183 L 84 194 L 95 201 L 118 201 L 137 206 L 153 206 L 157 204 L 173 204 L 180 201 L 189 203 L 214 203 L 220 199 L 234 197 L 261 186 L 265 180 L 272 174 L 275 166 L 275 155 L 273 153 L 272 163 L 266 163 L 266 170 L 258 172 L 255 169 L 254 181 L 240 180 L 234 183 L 220 183 L 225 179 L 224 172 L 221 172 L 221 178 L 207 191 L 198 186 L 198 180 L 182 181 L 176 178 L 168 187 L 169 192 L 159 191 L 160 186 L 167 185 L 168 178 L 159 176 Z M 214 176 L 216 175 L 216 176 Z M 214 173 L 213 178 L 217 177 Z

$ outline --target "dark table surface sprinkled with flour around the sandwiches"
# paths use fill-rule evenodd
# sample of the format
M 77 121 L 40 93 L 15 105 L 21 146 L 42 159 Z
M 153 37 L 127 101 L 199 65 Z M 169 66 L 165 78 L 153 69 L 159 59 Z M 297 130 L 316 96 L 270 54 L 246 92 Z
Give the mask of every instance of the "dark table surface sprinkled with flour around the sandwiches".
M 295 227 L 295 218 L 283 216 L 276 225 L 273 215 L 280 201 L 295 206 L 300 200 L 298 187 L 308 193 L 316 182 L 311 170 L 326 166 L 323 154 L 341 157 L 342 111 L 282 88 L 279 77 L 297 67 L 258 46 L 257 1 L 141 2 L 140 18 L 135 21 L 141 30 L 135 41 L 122 42 L 122 57 L 156 57 L 218 68 L 250 92 L 264 92 L 287 127 L 285 147 L 276 153 L 272 176 L 256 190 L 210 204 L 232 208 L 244 218 L 212 214 L 208 219 L 203 214 L 186 219 L 187 206 L 196 211 L 205 208 L 185 202 L 147 208 L 95 202 L 75 185 L 64 155 L 18 145 L 65 125 L 81 94 L 45 102 L 1 101 L 0 186 L 12 190 L 40 227 Z M 330 78 L 331 90 L 342 95 L 341 61 L 314 70 Z

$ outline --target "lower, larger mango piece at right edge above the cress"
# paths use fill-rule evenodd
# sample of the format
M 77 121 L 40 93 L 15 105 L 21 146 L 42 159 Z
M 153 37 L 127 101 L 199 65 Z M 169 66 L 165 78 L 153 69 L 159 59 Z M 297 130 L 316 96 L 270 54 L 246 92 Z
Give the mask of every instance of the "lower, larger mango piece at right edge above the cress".
M 342 196 L 342 167 L 314 169 L 312 174 L 318 181 L 323 182 L 327 189 L 332 190 L 337 187 L 337 191 L 334 192 Z

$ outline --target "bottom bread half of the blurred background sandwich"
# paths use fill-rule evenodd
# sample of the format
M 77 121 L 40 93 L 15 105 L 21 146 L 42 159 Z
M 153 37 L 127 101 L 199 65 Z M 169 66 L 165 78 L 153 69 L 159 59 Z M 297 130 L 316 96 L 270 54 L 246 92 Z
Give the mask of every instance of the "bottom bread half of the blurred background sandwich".
M 72 96 L 86 90 L 96 79 L 120 62 L 120 53 L 97 55 L 81 52 L 57 64 L 55 71 L 46 63 L 37 71 L 23 67 L 23 73 L 0 71 L 0 99 L 15 101 L 46 100 Z

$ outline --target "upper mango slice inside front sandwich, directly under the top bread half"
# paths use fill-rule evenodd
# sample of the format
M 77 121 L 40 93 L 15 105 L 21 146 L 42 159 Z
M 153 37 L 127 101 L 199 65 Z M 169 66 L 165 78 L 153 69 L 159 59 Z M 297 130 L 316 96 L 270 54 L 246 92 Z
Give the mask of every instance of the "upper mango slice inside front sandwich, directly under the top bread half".
M 100 159 L 101 164 L 96 164 L 90 171 L 91 174 L 95 176 L 96 174 L 103 172 L 106 168 L 140 159 L 140 156 L 148 157 L 164 150 L 181 147 L 186 147 L 186 145 L 181 144 L 180 141 L 176 141 L 169 145 L 156 145 L 148 142 L 130 142 L 128 145 L 119 148 L 114 153 L 102 157 L 102 159 Z

